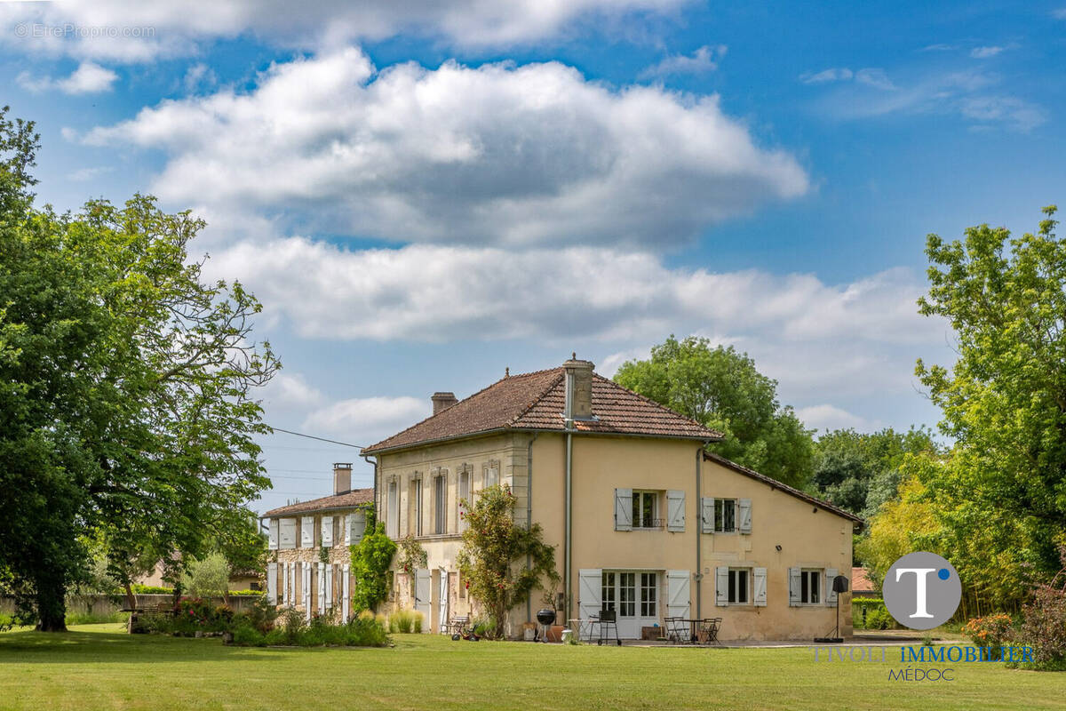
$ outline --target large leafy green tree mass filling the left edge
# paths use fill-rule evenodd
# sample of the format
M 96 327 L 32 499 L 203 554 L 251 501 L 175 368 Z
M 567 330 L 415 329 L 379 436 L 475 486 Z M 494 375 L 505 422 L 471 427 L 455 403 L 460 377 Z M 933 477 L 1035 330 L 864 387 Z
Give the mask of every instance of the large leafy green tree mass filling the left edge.
M 0 112 L 0 575 L 62 630 L 80 534 L 196 555 L 206 521 L 270 485 L 253 394 L 279 363 L 255 297 L 188 258 L 201 221 L 140 195 L 36 209 L 36 148 Z

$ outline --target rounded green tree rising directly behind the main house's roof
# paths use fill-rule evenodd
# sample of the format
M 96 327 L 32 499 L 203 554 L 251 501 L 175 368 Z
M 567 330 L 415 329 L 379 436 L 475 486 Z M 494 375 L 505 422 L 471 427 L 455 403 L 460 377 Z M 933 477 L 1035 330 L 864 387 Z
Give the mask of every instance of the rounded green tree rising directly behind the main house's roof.
M 712 349 L 706 338 L 671 336 L 649 359 L 623 363 L 614 379 L 723 433 L 712 447 L 738 464 L 793 486 L 810 476 L 811 433 L 778 403 L 777 381 L 731 345 Z

